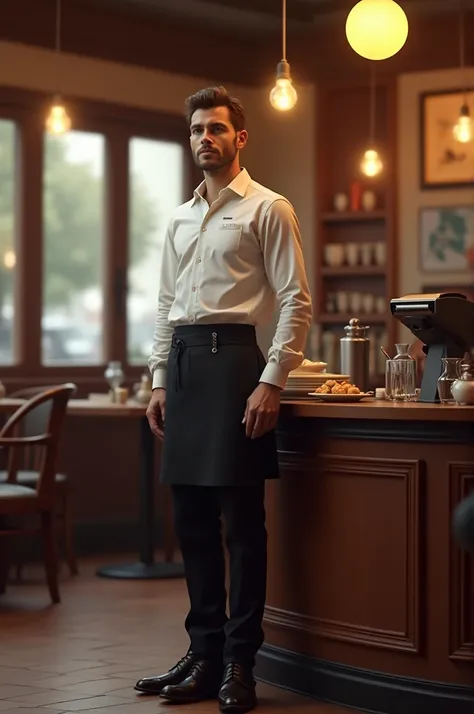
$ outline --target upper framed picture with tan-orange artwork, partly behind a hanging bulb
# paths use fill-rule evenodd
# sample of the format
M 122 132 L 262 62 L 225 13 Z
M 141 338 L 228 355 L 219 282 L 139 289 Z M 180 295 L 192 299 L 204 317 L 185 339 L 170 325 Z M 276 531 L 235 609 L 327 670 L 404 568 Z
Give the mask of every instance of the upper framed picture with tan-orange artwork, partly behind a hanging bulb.
M 474 117 L 474 94 L 452 91 L 420 97 L 421 187 L 456 188 L 474 184 L 474 141 L 462 144 L 453 128 L 464 102 Z

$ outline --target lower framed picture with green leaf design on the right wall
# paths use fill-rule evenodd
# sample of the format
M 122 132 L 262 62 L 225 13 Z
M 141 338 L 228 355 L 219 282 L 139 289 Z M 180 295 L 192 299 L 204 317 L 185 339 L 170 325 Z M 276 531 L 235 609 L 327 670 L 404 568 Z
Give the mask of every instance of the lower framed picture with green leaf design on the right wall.
M 455 273 L 468 271 L 473 264 L 474 206 L 420 209 L 420 269 Z

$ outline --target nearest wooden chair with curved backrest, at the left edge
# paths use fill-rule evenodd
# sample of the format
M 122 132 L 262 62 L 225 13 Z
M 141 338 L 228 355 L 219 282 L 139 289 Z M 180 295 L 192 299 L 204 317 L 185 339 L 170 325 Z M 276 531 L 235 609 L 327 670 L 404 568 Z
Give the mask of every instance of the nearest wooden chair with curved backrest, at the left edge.
M 1 540 L 41 532 L 49 592 L 54 603 L 60 602 L 54 527 L 55 468 L 67 403 L 75 390 L 74 384 L 64 384 L 33 397 L 10 417 L 0 432 L 0 447 L 7 451 L 7 479 L 0 484 L 0 521 L 3 521 L 0 527 L 0 594 L 5 591 L 8 577 L 8 556 Z M 46 424 L 44 433 L 19 436 L 27 431 L 27 421 L 35 412 L 36 416 L 41 414 Z M 19 452 L 26 454 L 27 458 L 29 452 L 34 453 L 32 462 L 39 475 L 35 489 L 17 481 Z M 21 522 L 31 517 L 40 519 L 40 527 L 21 527 Z M 14 520 L 10 523 L 10 519 Z

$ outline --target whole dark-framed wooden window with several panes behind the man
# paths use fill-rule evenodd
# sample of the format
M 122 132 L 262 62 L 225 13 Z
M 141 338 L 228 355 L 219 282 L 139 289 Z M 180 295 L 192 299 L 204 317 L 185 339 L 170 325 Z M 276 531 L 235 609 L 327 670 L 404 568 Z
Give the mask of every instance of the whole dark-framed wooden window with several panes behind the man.
M 52 136 L 50 99 L 0 87 L 0 367 L 82 396 L 112 360 L 146 368 L 165 231 L 199 179 L 183 116 L 69 98 Z

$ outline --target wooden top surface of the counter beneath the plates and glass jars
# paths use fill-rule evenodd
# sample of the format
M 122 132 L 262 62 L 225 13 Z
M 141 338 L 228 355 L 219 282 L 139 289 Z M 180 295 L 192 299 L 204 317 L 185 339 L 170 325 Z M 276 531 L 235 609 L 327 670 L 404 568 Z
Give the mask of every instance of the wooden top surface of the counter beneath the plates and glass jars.
M 282 417 L 313 417 L 316 419 L 384 419 L 394 421 L 474 421 L 474 406 L 428 404 L 425 402 L 388 402 L 365 399 L 343 404 L 282 399 Z

